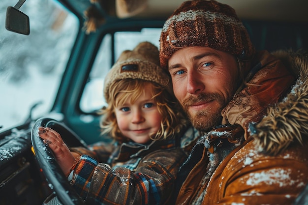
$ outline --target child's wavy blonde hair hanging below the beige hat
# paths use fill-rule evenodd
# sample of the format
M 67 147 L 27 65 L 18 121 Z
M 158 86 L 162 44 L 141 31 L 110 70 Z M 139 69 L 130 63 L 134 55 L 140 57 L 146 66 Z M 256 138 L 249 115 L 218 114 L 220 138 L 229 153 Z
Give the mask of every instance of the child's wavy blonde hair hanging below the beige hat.
M 151 85 L 151 90 L 145 90 L 145 86 Z M 108 107 L 102 110 L 100 126 L 102 134 L 109 133 L 115 140 L 120 142 L 127 141 L 119 129 L 115 115 L 115 107 L 121 106 L 130 98 L 130 103 L 134 103 L 145 91 L 152 92 L 153 99 L 157 105 L 158 112 L 162 116 L 159 131 L 151 136 L 152 140 L 163 140 L 179 133 L 185 127 L 187 120 L 182 107 L 173 94 L 162 88 L 158 84 L 142 79 L 122 79 L 112 83 L 109 89 Z M 121 98 L 118 98 L 118 95 Z

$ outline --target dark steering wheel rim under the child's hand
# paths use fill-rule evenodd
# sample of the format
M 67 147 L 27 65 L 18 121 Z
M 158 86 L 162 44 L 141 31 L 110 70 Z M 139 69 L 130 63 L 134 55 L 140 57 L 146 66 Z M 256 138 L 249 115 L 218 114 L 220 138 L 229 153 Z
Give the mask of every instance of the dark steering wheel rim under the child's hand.
M 52 184 L 52 188 L 56 192 L 59 201 L 63 205 L 85 205 L 85 202 L 76 193 L 75 189 L 69 184 L 51 149 L 43 143 L 43 139 L 41 139 L 38 135 L 38 127 L 47 127 L 54 122 L 57 121 L 50 118 L 40 118 L 36 120 L 32 127 L 31 142 L 35 152 L 36 161 L 38 162 L 40 168 L 42 168 L 48 182 Z M 77 136 L 75 133 L 65 127 L 65 125 L 62 125 L 59 122 L 56 124 L 58 127 L 66 130 L 67 133 L 70 133 L 72 137 Z M 83 145 L 82 142 L 80 144 Z

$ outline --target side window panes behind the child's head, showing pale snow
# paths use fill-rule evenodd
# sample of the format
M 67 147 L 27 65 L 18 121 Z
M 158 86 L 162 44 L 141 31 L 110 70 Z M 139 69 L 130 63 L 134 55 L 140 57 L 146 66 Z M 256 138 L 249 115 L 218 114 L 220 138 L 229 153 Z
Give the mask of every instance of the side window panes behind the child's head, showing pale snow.
M 131 50 L 142 41 L 149 41 L 159 47 L 161 29 L 142 29 L 141 31 L 119 31 L 114 33 L 115 59 L 118 59 L 124 50 Z M 92 113 L 107 103 L 103 96 L 104 78 L 112 67 L 112 35 L 104 36 L 94 60 L 89 80 L 84 88 L 80 109 L 85 113 Z

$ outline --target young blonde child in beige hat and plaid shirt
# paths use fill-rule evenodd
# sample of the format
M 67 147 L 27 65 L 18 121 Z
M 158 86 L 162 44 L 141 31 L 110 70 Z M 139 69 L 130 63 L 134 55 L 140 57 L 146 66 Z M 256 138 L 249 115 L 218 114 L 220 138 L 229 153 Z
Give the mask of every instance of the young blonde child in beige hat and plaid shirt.
M 187 157 L 178 147 L 186 127 L 158 49 L 142 42 L 124 51 L 105 78 L 103 133 L 114 144 L 69 149 L 59 133 L 39 128 L 64 174 L 86 204 L 166 204 Z

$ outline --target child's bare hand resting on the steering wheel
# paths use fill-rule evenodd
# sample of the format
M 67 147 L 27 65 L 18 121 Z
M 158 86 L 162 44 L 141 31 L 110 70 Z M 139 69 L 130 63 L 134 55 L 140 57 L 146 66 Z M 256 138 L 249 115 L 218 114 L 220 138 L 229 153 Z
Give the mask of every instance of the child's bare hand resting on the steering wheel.
M 38 135 L 44 139 L 43 142 L 54 152 L 55 158 L 63 173 L 68 175 L 75 162 L 75 158 L 69 148 L 64 144 L 61 135 L 49 127 L 39 127 L 38 130 Z

